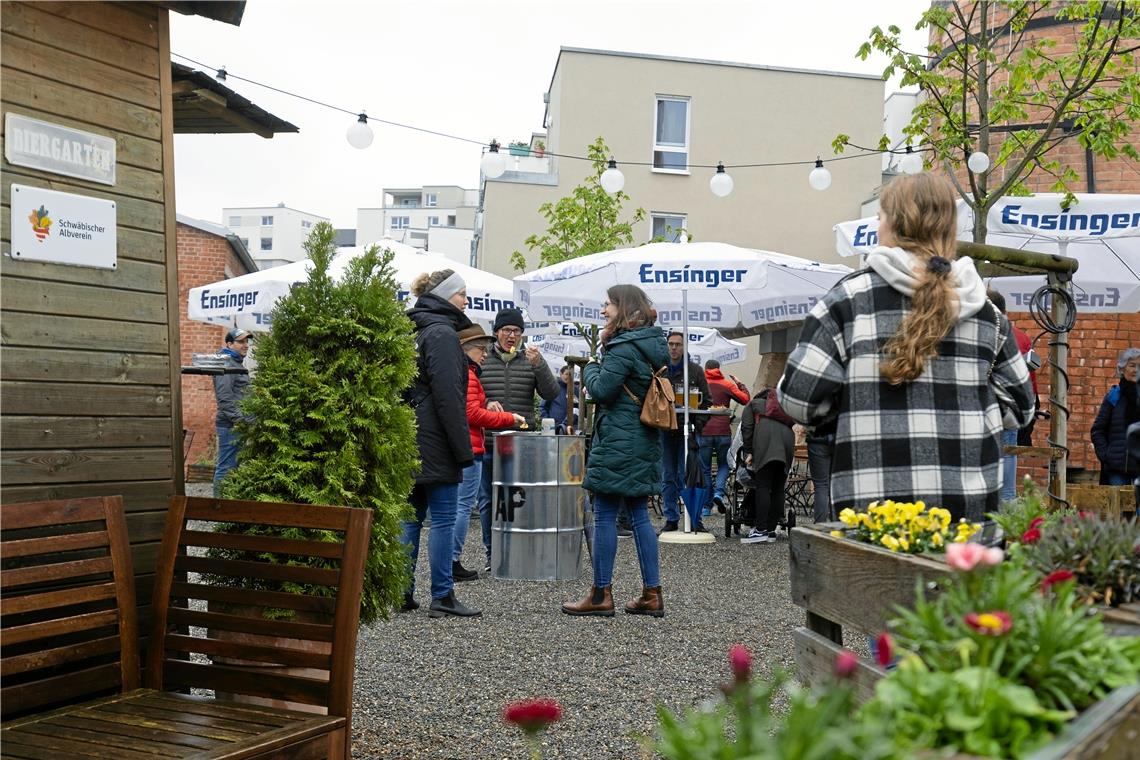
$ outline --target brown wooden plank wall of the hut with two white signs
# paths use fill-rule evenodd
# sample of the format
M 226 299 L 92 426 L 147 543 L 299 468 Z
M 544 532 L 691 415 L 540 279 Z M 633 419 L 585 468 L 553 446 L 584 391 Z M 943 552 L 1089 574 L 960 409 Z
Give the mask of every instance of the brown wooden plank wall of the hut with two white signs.
M 122 495 L 144 606 L 182 492 L 168 13 L 5 2 L 0 15 L 3 114 L 116 142 L 114 186 L 0 158 L 0 512 Z M 113 201 L 117 268 L 13 261 L 11 228 L 27 215 L 10 205 L 13 183 Z

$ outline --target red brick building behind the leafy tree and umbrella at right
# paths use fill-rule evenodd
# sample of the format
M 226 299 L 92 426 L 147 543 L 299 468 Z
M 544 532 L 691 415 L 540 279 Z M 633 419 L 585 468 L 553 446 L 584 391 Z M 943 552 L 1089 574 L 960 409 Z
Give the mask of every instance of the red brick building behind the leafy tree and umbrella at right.
M 966 15 L 969 15 L 972 3 L 959 3 Z M 1009 11 L 996 3 L 993 8 L 990 26 L 991 28 L 1009 19 Z M 977 25 L 975 25 L 975 31 Z M 1027 31 L 1025 40 L 1034 40 L 1048 36 L 1053 40 L 1054 47 L 1051 56 L 1060 56 L 1074 50 L 1080 26 L 1076 24 L 1049 25 L 1041 28 Z M 1007 35 L 1004 42 L 1011 38 Z M 999 57 L 1005 55 L 1007 48 L 999 44 L 995 54 Z M 1004 82 L 997 82 L 1004 84 Z M 1024 121 L 1040 121 L 1043 114 L 1031 113 Z M 999 153 L 1002 133 L 991 134 L 991 156 Z M 1069 183 L 1069 189 L 1074 193 L 1130 193 L 1140 194 L 1140 165 L 1127 156 L 1118 155 L 1114 158 L 1092 157 L 1092 178 L 1090 183 L 1086 170 L 1085 150 L 1081 146 L 1075 134 L 1061 140 L 1057 147 L 1049 152 L 1048 158 L 1059 160 L 1062 165 L 1072 167 L 1078 179 Z M 995 167 L 991 175 L 990 187 L 994 188 L 1004 179 L 1003 167 Z M 966 167 L 958 172 L 960 180 L 966 179 Z M 1026 186 L 1034 193 L 1050 193 L 1054 178 L 1043 171 L 1034 172 Z M 1034 342 L 1034 349 L 1043 361 L 1048 361 L 1050 334 L 1040 335 L 1041 327 L 1033 321 L 1028 313 L 1011 312 L 1010 319 L 1024 329 Z M 1068 334 L 1069 338 L 1069 397 L 1068 406 L 1072 411 L 1068 427 L 1068 446 L 1070 449 L 1069 466 L 1084 467 L 1086 471 L 1100 469 L 1100 463 L 1092 450 L 1089 438 L 1089 430 L 1092 420 L 1097 416 L 1100 402 L 1108 389 L 1114 385 L 1118 376 L 1116 374 L 1116 358 L 1119 352 L 1129 346 L 1140 346 L 1140 314 L 1098 314 L 1077 312 L 1076 325 Z M 1049 398 L 1049 367 L 1043 365 L 1037 373 L 1039 395 L 1042 408 L 1048 408 Z M 1034 430 L 1033 443 L 1045 446 L 1049 434 L 1049 422 L 1040 420 Z M 1043 459 L 1021 460 L 1018 463 L 1020 475 L 1031 475 L 1039 483 L 1047 481 L 1048 464 Z

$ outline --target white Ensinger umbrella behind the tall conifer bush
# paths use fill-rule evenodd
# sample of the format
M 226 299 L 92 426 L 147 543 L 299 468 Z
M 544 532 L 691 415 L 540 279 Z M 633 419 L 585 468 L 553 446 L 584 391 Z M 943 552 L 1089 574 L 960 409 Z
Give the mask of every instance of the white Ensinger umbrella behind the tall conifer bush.
M 412 280 L 420 273 L 454 269 L 467 283 L 467 316 L 471 319 L 490 322 L 499 309 L 514 305 L 511 280 L 505 277 L 389 238 L 377 240 L 376 245 L 396 254 L 392 265 L 399 284 L 397 296 L 400 301 L 409 300 Z M 333 278 L 343 275 L 349 262 L 364 253 L 366 247 L 339 251 L 329 268 Z M 190 288 L 189 318 L 196 321 L 235 325 L 253 332 L 267 332 L 272 324 L 272 309 L 277 305 L 277 301 L 285 296 L 294 284 L 304 280 L 310 269 L 312 261 L 306 259 Z

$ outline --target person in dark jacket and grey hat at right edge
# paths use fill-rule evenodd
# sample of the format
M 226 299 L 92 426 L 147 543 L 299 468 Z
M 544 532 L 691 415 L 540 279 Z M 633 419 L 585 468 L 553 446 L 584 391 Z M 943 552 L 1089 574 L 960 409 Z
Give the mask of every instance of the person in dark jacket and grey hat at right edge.
M 1092 446 L 1100 459 L 1101 485 L 1127 485 L 1138 463 L 1127 452 L 1129 425 L 1140 422 L 1140 349 L 1124 349 L 1116 360 L 1118 385 L 1109 389 L 1092 423 Z

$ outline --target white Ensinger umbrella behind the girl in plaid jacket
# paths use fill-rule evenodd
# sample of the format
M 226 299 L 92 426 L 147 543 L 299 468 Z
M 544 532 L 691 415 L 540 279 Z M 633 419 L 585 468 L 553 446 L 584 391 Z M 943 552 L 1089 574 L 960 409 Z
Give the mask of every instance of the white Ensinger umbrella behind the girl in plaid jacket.
M 1080 262 L 1073 276 L 1073 299 L 1086 312 L 1140 310 L 1140 195 L 1077 194 L 1078 203 L 1061 210 L 1059 194 L 1005 197 L 986 216 L 986 243 Z M 836 224 L 836 250 L 852 256 L 879 244 L 874 216 Z M 958 237 L 971 240 L 974 212 L 959 201 Z M 995 277 L 993 287 L 1012 311 L 1025 311 L 1043 275 Z

